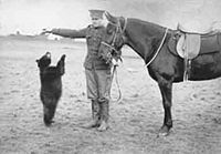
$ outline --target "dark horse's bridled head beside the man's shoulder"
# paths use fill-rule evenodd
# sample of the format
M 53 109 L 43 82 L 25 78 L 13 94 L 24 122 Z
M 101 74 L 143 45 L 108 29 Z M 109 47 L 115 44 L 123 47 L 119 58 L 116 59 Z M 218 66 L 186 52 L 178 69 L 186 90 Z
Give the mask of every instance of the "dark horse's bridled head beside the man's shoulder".
M 125 43 L 124 31 L 126 29 L 126 19 L 123 17 L 113 17 L 105 12 L 108 20 L 99 51 L 116 53 L 119 52 Z

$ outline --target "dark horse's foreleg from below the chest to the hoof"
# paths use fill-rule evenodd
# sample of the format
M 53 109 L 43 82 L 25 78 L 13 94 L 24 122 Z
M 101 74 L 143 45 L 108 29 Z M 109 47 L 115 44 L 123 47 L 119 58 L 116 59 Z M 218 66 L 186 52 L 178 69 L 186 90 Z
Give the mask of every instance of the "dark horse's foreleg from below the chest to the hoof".
M 171 105 L 172 105 L 172 82 L 159 82 L 159 89 L 162 96 L 162 105 L 165 109 L 164 124 L 159 131 L 159 135 L 168 135 L 172 127 Z

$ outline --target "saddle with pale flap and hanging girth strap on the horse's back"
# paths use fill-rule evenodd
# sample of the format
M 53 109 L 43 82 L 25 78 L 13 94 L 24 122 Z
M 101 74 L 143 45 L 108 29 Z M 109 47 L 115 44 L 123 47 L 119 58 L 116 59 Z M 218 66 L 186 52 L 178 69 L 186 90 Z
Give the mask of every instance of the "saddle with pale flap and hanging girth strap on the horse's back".
M 221 50 L 221 33 L 214 31 L 194 32 L 178 27 L 168 42 L 168 48 L 172 54 L 183 59 L 183 81 L 187 81 L 192 59 Z

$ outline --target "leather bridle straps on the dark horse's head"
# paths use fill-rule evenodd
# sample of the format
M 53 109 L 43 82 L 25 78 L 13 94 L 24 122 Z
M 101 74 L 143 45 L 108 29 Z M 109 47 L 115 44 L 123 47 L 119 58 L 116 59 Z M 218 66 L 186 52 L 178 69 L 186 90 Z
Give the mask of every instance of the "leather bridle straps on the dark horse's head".
M 127 27 L 127 19 L 122 17 L 124 19 L 124 27 L 122 28 L 120 25 L 120 22 L 119 22 L 119 19 L 117 20 L 117 23 L 114 23 L 114 22 L 110 22 L 110 24 L 115 25 L 116 27 L 116 31 L 114 33 L 114 37 L 113 37 L 113 40 L 110 42 L 110 44 L 102 41 L 101 43 L 105 47 L 108 47 L 110 50 L 114 50 L 116 52 L 118 52 L 118 50 L 115 48 L 115 43 L 116 43 L 116 38 L 117 38 L 117 33 L 120 33 L 122 35 L 124 34 L 125 30 L 126 30 L 126 27 Z M 124 39 L 123 39 L 124 40 Z

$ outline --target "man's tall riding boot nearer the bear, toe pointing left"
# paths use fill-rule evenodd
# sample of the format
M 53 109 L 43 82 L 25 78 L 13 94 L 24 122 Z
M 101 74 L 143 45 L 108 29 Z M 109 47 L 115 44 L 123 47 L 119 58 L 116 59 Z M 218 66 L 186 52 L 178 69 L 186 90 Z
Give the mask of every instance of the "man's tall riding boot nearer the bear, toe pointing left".
M 84 125 L 85 129 L 99 126 L 101 106 L 95 100 L 92 100 L 92 121 Z

